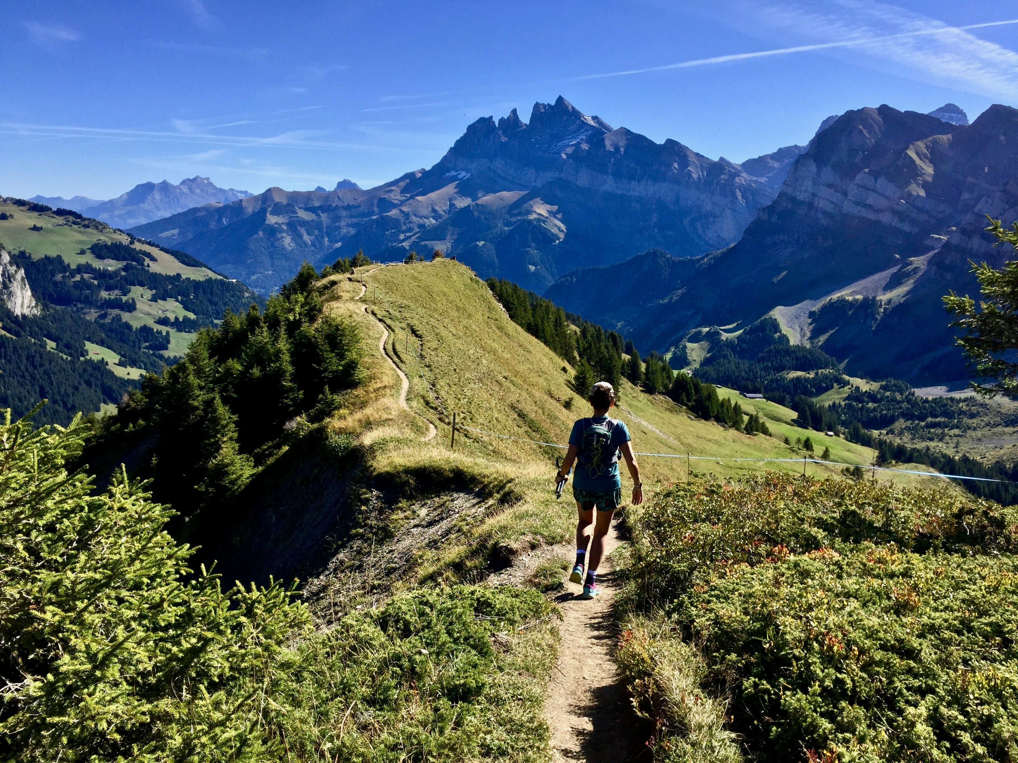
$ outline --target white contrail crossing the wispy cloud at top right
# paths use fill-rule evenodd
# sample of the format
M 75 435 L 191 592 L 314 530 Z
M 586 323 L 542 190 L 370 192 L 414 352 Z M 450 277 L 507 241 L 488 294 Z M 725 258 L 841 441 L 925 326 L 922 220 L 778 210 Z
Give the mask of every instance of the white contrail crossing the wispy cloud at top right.
M 851 49 L 869 58 L 893 63 L 899 73 L 911 72 L 938 84 L 991 97 L 1018 94 L 1018 54 L 971 34 L 974 30 L 1018 24 L 1018 18 L 951 26 L 943 21 L 873 2 L 816 5 L 761 5 L 738 3 L 714 17 L 731 19 L 733 26 L 756 35 L 781 33 L 812 38 L 782 48 L 735 53 L 597 74 L 576 79 L 600 79 L 672 69 L 736 63 L 796 53 L 838 52 Z M 736 20 L 738 19 L 738 20 Z

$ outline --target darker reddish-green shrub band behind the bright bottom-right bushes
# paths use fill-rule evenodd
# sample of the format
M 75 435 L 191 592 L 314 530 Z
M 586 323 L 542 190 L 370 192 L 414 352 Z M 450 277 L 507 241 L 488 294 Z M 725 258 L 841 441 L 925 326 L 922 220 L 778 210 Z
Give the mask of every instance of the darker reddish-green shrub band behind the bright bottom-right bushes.
M 842 543 L 961 554 L 1018 550 L 1013 508 L 944 488 L 778 472 L 737 483 L 713 477 L 678 483 L 634 514 L 628 595 L 641 606 L 668 604 L 728 565 Z

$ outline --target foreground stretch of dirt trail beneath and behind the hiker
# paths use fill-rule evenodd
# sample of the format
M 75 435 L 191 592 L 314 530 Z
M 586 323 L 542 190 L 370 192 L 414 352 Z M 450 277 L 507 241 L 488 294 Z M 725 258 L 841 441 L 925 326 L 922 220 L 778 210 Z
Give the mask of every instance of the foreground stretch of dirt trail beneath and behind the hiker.
M 609 554 L 621 542 L 613 526 L 605 538 L 605 559 L 598 571 L 600 596 L 584 601 L 579 598 L 581 587 L 567 582 L 566 591 L 556 598 L 562 610 L 562 642 L 545 700 L 556 763 L 651 760 L 643 744 L 647 732 L 632 711 L 612 659 L 617 635 L 612 603 L 618 581 Z

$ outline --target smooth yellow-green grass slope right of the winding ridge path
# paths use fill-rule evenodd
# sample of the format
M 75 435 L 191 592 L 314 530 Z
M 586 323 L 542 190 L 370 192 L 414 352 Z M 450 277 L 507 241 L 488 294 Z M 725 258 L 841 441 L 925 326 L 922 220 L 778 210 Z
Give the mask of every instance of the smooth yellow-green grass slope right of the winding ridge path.
M 570 387 L 573 368 L 548 347 L 516 326 L 492 296 L 488 286 L 461 263 L 438 260 L 427 263 L 387 266 L 366 275 L 354 276 L 366 287 L 367 309 L 390 332 L 389 354 L 410 379 L 408 402 L 439 428 L 437 443 L 448 446 L 453 412 L 461 425 L 456 433 L 457 452 L 505 465 L 535 468 L 541 484 L 550 483 L 552 462 L 562 451 L 532 443 L 493 437 L 462 427 L 473 427 L 510 437 L 565 444 L 573 421 L 588 415 L 583 396 Z M 359 291 L 343 287 L 346 277 L 331 277 L 332 309 L 357 309 L 344 303 Z M 352 294 L 351 294 L 352 292 Z M 327 297 L 329 298 L 329 297 Z M 374 321 L 372 321 L 374 322 Z M 378 340 L 378 329 L 363 327 L 369 346 Z M 395 378 L 395 377 L 394 377 Z M 394 382 L 398 384 L 398 382 Z M 783 442 L 808 434 L 816 454 L 831 448 L 836 461 L 866 465 L 871 449 L 805 432 L 791 424 L 795 412 L 767 401 L 747 401 L 732 391 L 721 390 L 739 400 L 747 413 L 755 407 L 768 419 L 777 436 L 742 434 L 734 429 L 695 419 L 681 406 L 661 395 L 646 395 L 628 382 L 619 391 L 619 406 L 613 416 L 625 421 L 636 450 L 642 453 L 711 456 L 720 459 L 801 459 L 803 451 Z M 571 409 L 565 401 L 573 399 Z M 780 439 L 778 437 L 781 437 Z M 801 464 L 693 461 L 694 472 L 735 477 L 766 469 L 800 472 Z M 684 458 L 644 457 L 641 470 L 652 481 L 684 479 Z M 903 467 L 905 468 L 905 467 Z M 922 468 L 922 467 L 918 467 Z M 834 467 L 807 466 L 812 476 L 840 474 Z M 624 470 L 623 470 L 624 471 Z M 885 475 L 889 474 L 887 472 Z M 924 483 L 907 475 L 890 475 L 907 483 Z M 627 479 L 623 475 L 623 479 Z

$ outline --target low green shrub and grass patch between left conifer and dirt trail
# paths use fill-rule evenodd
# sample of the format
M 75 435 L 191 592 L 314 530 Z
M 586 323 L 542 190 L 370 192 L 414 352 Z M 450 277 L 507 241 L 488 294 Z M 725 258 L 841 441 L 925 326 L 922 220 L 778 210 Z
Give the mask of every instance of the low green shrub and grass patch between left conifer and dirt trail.
M 394 597 L 301 647 L 276 733 L 300 761 L 543 760 L 551 628 L 536 591 Z

